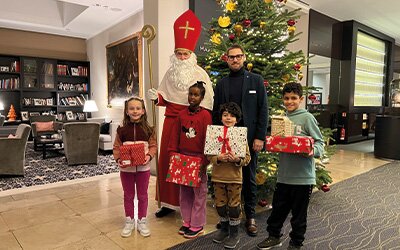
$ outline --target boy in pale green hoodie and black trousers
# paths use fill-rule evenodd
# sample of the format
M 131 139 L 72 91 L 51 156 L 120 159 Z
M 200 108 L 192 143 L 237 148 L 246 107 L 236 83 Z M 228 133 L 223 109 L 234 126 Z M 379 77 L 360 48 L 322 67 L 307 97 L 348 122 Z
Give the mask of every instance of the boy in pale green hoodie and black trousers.
M 309 155 L 280 153 L 277 184 L 272 201 L 272 212 L 267 220 L 269 237 L 257 244 L 258 249 L 281 246 L 281 229 L 289 212 L 292 212 L 288 249 L 300 249 L 307 228 L 307 209 L 315 185 L 314 157 L 320 157 L 324 141 L 314 116 L 299 108 L 304 100 L 300 83 L 287 83 L 283 87 L 283 104 L 288 118 L 294 123 L 294 135 L 311 136 L 314 139 L 313 152 Z

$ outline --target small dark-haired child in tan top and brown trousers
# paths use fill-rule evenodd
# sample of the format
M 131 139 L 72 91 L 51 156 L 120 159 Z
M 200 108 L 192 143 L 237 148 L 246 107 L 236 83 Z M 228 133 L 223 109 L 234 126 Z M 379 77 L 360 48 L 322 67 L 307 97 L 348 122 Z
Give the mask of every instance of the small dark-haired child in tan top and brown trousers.
M 222 104 L 220 118 L 226 127 L 233 127 L 240 121 L 242 112 L 234 102 Z M 216 243 L 224 243 L 226 248 L 235 248 L 239 243 L 238 229 L 241 213 L 242 167 L 251 160 L 249 146 L 246 157 L 239 158 L 234 152 L 221 153 L 209 157 L 213 165 L 211 180 L 214 183 L 215 206 L 220 216 L 221 228 L 214 237 Z

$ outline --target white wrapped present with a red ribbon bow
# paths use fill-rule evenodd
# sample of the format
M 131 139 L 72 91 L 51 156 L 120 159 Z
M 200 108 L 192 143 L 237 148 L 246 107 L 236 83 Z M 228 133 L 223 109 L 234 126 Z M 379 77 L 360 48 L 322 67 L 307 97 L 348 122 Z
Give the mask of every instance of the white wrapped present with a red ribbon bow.
M 208 125 L 205 155 L 233 152 L 238 157 L 246 156 L 247 128 Z

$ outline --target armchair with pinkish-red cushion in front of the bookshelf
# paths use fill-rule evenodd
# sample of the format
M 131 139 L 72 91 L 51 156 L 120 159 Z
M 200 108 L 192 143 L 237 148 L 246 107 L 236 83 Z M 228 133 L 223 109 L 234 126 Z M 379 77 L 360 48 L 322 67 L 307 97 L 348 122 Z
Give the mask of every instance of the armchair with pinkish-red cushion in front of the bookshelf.
M 38 138 L 43 135 L 51 136 L 53 134 L 58 134 L 58 131 L 63 128 L 63 123 L 57 122 L 56 116 L 54 115 L 31 116 L 30 122 L 32 126 L 33 148 L 35 151 L 38 150 L 38 145 L 41 144 Z M 52 124 L 49 124 L 49 122 Z

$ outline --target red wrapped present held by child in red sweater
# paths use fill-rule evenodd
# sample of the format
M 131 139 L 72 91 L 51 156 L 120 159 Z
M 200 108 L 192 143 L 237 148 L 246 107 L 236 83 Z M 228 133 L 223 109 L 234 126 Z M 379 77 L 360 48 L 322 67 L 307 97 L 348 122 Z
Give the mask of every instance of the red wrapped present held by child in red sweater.
M 172 153 L 169 159 L 167 182 L 189 187 L 200 185 L 201 158 Z

